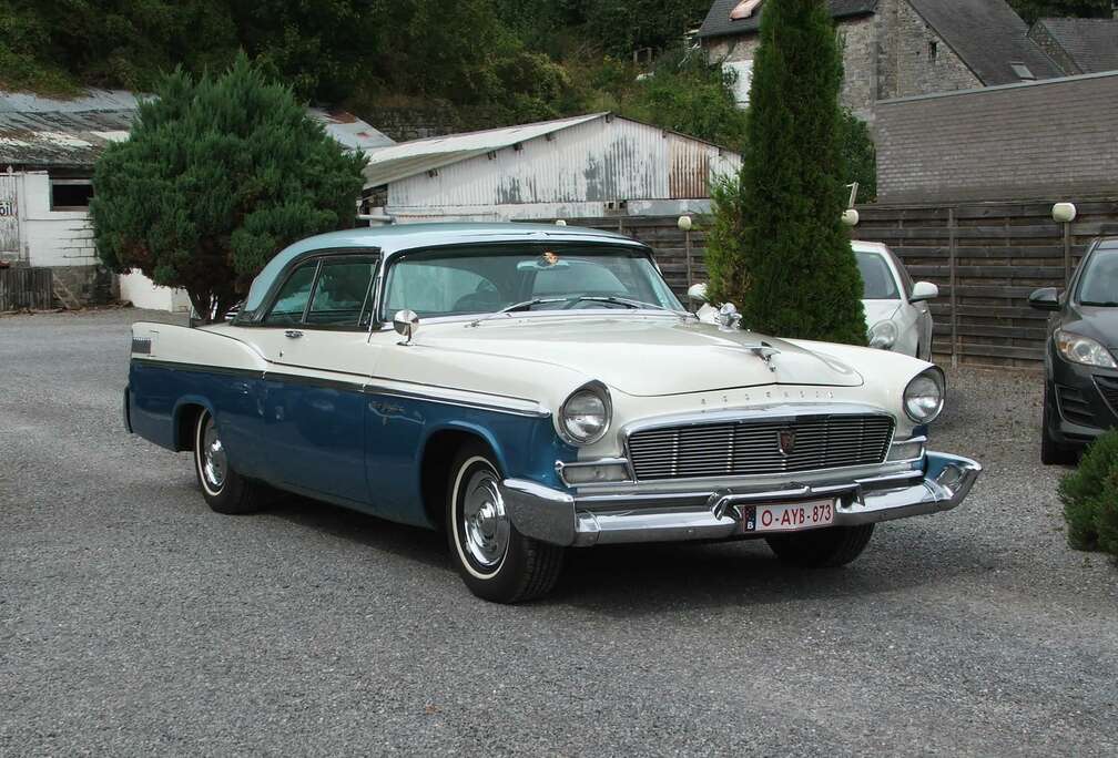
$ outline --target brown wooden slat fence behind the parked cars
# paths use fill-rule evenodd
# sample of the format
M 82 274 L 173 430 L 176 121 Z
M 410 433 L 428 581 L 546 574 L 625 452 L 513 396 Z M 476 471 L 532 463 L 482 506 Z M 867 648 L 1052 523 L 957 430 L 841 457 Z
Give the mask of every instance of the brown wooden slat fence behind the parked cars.
M 1077 202 L 1077 219 L 1052 220 L 1052 201 L 955 205 L 864 205 L 853 231 L 884 242 L 915 279 L 939 286 L 931 304 L 939 362 L 1035 366 L 1043 359 L 1046 314 L 1029 307 L 1038 287 L 1064 287 L 1091 239 L 1118 234 L 1118 199 Z M 581 219 L 647 243 L 669 284 L 688 288 L 686 236 L 676 217 Z M 693 281 L 707 280 L 704 220 L 690 232 Z

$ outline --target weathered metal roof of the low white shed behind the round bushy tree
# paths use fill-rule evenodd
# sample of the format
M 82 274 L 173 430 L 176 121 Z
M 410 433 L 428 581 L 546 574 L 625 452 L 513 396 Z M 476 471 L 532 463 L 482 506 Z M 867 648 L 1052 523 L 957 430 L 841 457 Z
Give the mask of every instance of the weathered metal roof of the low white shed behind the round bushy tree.
M 89 167 L 106 145 L 127 138 L 138 105 L 138 96 L 122 89 L 91 89 L 73 99 L 0 92 L 0 164 Z M 309 108 L 307 115 L 349 150 L 395 144 L 344 111 Z

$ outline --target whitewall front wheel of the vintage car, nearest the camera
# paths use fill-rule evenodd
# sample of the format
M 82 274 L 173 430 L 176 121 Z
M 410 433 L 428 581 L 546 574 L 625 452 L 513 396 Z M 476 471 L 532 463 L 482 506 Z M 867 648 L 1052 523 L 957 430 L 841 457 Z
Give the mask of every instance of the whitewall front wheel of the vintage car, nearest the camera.
M 549 592 L 562 570 L 563 548 L 517 531 L 492 453 L 481 444 L 464 445 L 449 477 L 447 541 L 470 591 L 494 603 L 519 603 Z

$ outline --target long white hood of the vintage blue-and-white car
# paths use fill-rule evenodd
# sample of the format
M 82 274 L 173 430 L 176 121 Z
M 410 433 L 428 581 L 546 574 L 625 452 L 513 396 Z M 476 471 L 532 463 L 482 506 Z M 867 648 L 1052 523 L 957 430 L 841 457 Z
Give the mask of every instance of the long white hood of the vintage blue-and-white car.
M 748 346 L 779 351 L 776 371 Z M 638 396 L 770 384 L 859 386 L 861 374 L 831 356 L 749 332 L 669 316 L 548 316 L 420 327 L 414 344 L 576 370 Z

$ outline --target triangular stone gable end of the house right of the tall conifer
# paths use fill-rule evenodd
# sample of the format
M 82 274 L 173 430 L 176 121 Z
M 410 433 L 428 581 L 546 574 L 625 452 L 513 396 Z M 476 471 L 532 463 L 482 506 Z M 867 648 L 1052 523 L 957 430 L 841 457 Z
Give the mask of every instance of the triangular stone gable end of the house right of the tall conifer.
M 882 0 L 878 27 L 878 99 L 973 89 L 983 84 L 907 0 Z M 932 52 L 935 49 L 935 52 Z

